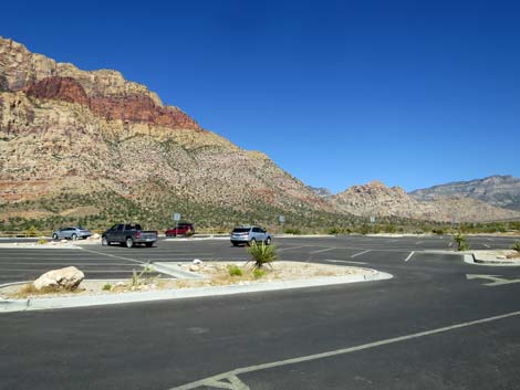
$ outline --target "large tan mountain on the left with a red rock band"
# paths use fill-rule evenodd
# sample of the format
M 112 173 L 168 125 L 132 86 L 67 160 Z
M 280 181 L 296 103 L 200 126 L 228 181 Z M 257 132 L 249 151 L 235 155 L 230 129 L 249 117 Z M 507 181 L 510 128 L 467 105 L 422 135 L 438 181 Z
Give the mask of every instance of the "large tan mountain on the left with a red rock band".
M 107 219 L 114 199 L 135 215 L 113 218 L 163 223 L 179 210 L 332 211 L 266 155 L 204 130 L 117 72 L 81 71 L 0 38 L 0 219 L 77 209 Z

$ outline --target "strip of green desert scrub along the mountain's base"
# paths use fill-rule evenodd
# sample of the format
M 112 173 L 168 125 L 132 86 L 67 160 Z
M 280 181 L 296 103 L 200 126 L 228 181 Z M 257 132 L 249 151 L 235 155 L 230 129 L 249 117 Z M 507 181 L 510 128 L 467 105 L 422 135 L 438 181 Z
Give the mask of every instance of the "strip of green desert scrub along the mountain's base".
M 367 218 L 335 214 L 312 210 L 308 207 L 292 207 L 283 210 L 261 202 L 240 204 L 237 208 L 200 204 L 186 196 L 174 198 L 171 192 L 158 199 L 157 192 L 142 188 L 143 198 L 125 198 L 113 191 L 89 194 L 63 193 L 2 205 L 2 212 L 48 213 L 48 217 L 11 217 L 0 220 L 0 231 L 18 231 L 31 236 L 67 224 L 79 224 L 94 231 L 104 230 L 117 222 L 139 222 L 146 229 L 163 231 L 174 225 L 173 213 L 193 222 L 197 232 L 228 233 L 240 224 L 259 224 L 275 233 L 493 233 L 520 231 L 520 222 L 462 223 L 451 224 L 414 221 L 381 217 L 371 224 Z M 165 193 L 166 189 L 165 189 Z M 143 205 L 146 204 L 146 205 Z M 279 215 L 285 222 L 279 224 Z

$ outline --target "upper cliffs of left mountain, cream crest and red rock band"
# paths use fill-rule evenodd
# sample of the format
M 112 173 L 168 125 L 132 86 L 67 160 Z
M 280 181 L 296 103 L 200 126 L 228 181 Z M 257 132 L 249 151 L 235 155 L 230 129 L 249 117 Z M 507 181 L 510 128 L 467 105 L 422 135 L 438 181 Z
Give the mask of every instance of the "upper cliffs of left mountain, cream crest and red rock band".
M 81 71 L 34 54 L 22 44 L 0 38 L 0 92 L 24 91 L 39 99 L 87 106 L 107 120 L 138 122 L 169 128 L 201 130 L 177 107 L 164 106 L 144 85 L 115 71 Z

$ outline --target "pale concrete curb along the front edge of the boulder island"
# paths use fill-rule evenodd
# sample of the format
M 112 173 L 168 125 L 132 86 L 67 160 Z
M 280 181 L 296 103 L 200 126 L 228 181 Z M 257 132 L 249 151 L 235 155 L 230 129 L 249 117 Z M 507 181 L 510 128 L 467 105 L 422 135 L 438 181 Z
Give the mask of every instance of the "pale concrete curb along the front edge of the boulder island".
M 86 306 L 101 306 L 101 305 L 116 305 L 129 304 L 164 299 L 181 299 L 181 298 L 196 298 L 207 296 L 221 296 L 235 294 L 249 294 L 260 292 L 281 291 L 289 288 L 305 288 L 331 286 L 337 284 L 358 283 L 383 281 L 392 278 L 393 275 L 370 270 L 370 275 L 349 275 L 349 276 L 331 276 L 331 277 L 316 277 L 312 280 L 297 280 L 287 282 L 268 282 L 268 283 L 251 283 L 248 285 L 233 285 L 233 286 L 214 286 L 214 287 L 197 287 L 197 288 L 183 288 L 183 289 L 165 289 L 154 292 L 138 292 L 138 293 L 123 293 L 123 294 L 106 294 L 95 296 L 69 296 L 69 297 L 52 297 L 52 298 L 37 298 L 37 299 L 0 299 L 0 314 L 12 312 L 27 312 L 27 310 L 43 310 L 53 308 L 71 308 L 71 307 L 86 307 Z

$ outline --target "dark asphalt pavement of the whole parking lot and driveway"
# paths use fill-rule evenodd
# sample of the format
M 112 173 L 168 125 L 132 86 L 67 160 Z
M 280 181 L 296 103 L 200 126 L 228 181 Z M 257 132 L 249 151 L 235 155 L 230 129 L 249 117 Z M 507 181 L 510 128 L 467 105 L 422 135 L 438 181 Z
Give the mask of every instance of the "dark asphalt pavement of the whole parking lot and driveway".
M 470 245 L 507 249 L 513 241 L 479 236 Z M 281 260 L 366 266 L 394 278 L 2 314 L 0 389 L 519 388 L 520 268 L 467 264 L 444 253 L 451 247 L 445 236 L 290 238 L 275 244 Z M 2 249 L 0 275 L 28 277 L 8 271 L 19 261 L 38 263 L 24 264 L 31 267 L 74 260 L 92 266 L 90 275 L 119 262 L 247 259 L 243 247 L 222 240 L 83 246 Z M 490 286 L 480 277 L 491 274 L 509 283 Z

